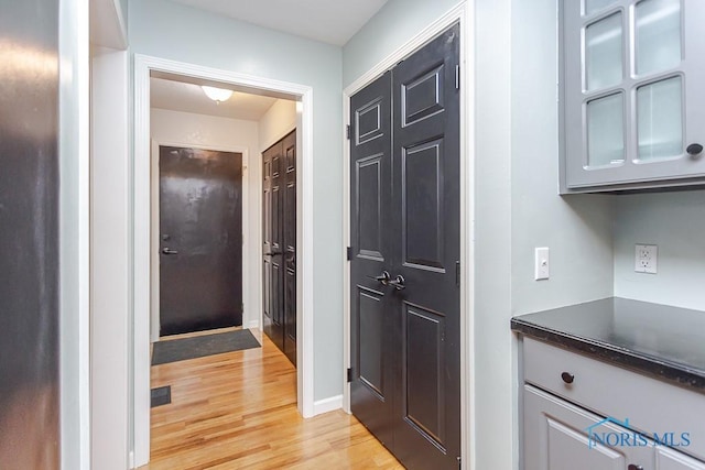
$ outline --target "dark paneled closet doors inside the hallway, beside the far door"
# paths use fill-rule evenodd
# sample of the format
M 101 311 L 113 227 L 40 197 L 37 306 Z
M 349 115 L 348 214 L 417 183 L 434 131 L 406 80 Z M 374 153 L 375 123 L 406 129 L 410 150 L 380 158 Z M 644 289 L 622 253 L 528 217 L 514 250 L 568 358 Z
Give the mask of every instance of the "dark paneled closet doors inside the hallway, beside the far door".
M 296 132 L 262 153 L 263 330 L 296 363 Z

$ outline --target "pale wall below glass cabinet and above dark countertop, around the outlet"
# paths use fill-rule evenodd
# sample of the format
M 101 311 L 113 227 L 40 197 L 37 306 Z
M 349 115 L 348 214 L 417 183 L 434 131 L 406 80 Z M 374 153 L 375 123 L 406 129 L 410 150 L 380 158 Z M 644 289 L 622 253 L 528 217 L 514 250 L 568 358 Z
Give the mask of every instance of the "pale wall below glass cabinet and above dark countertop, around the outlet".
M 615 295 L 705 309 L 705 192 L 615 196 Z M 659 247 L 658 274 L 634 272 L 634 244 Z

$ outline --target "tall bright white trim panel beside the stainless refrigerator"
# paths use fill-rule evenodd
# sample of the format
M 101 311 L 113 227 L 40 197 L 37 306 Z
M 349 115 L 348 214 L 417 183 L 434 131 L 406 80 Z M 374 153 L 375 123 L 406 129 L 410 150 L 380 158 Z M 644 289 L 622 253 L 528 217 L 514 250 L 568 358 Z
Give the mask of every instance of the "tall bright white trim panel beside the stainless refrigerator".
M 62 468 L 90 467 L 88 2 L 59 2 Z

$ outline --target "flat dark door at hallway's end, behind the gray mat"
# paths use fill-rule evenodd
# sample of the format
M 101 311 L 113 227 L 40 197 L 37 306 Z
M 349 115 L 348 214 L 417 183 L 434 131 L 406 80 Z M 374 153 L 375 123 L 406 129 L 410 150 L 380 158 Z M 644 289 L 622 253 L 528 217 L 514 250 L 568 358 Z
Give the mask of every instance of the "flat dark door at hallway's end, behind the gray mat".
M 163 335 L 242 325 L 242 155 L 160 146 Z

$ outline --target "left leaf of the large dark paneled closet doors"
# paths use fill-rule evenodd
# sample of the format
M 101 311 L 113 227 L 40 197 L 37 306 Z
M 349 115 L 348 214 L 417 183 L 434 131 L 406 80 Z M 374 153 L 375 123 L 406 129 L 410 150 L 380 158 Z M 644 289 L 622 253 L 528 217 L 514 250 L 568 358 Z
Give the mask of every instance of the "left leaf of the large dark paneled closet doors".
M 393 447 L 394 353 L 390 306 L 391 72 L 350 98 L 350 340 L 352 413 Z

